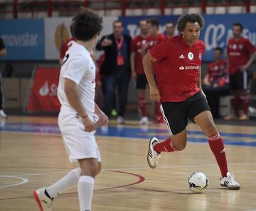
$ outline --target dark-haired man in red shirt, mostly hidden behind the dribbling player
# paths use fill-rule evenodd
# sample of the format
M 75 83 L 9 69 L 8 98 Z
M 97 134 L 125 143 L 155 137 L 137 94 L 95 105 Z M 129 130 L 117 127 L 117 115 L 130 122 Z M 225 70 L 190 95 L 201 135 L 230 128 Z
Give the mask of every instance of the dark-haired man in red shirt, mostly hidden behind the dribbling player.
M 152 47 L 159 45 L 162 41 L 166 39 L 165 35 L 159 31 L 159 20 L 156 18 L 151 18 L 147 21 L 147 30 L 148 30 L 148 37 L 146 38 L 146 42 L 142 45 L 142 55 L 144 56 L 146 52 L 152 49 Z M 159 66 L 157 62 L 154 64 L 154 69 L 158 69 Z M 164 123 L 164 119 L 161 115 L 160 111 L 160 103 L 155 102 L 154 105 L 154 120 L 156 123 Z

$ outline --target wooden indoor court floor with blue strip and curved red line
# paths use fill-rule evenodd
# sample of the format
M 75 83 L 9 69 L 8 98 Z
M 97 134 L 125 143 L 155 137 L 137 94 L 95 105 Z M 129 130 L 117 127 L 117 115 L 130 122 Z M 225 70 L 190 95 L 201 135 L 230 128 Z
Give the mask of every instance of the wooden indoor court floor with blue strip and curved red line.
M 11 117 L 0 121 L 0 210 L 38 210 L 33 190 L 49 186 L 77 167 L 68 161 L 57 118 Z M 165 126 L 139 127 L 127 122 L 97 131 L 102 173 L 95 181 L 93 211 L 134 210 L 256 210 L 256 127 L 218 125 L 225 139 L 229 171 L 241 185 L 226 190 L 200 128 L 188 125 L 183 152 L 162 154 L 157 169 L 146 163 L 148 139 L 164 139 Z M 210 185 L 193 194 L 186 180 L 202 171 Z M 79 210 L 77 188 L 55 199 L 53 210 Z

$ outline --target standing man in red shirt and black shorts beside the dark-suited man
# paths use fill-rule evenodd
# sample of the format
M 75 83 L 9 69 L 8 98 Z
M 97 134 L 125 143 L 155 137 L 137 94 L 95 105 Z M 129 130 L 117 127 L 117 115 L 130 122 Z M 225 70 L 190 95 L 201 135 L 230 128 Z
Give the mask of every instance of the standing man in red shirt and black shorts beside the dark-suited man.
M 132 78 L 136 80 L 136 89 L 138 90 L 138 103 L 142 119 L 141 125 L 147 125 L 149 120 L 146 116 L 146 76 L 142 64 L 142 45 L 146 43 L 147 25 L 146 20 L 139 21 L 140 34 L 132 39 L 131 42 L 131 69 Z

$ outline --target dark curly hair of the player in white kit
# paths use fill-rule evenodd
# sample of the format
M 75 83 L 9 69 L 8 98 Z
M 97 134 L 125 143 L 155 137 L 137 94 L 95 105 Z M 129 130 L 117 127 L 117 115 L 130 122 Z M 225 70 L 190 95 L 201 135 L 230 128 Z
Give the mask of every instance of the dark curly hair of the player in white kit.
M 102 17 L 91 9 L 83 9 L 72 19 L 74 38 L 82 41 L 91 40 L 102 30 Z

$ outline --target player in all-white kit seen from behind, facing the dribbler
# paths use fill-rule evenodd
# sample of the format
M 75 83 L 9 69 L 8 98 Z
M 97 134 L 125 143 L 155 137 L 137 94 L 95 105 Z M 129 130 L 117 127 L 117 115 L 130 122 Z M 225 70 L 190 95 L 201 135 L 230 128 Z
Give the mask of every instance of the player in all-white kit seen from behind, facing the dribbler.
M 33 195 L 41 211 L 52 210 L 53 199 L 64 190 L 78 185 L 81 211 L 89 211 L 95 176 L 100 173 L 100 152 L 95 140 L 97 127 L 107 125 L 107 115 L 95 104 L 95 63 L 90 51 L 95 47 L 102 30 L 102 18 L 94 11 L 85 10 L 73 18 L 73 32 L 77 42 L 63 59 L 58 85 L 61 103 L 58 125 L 70 161 L 80 167 Z

